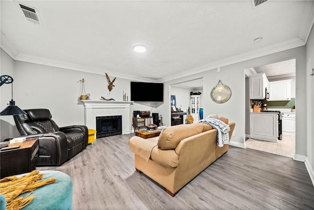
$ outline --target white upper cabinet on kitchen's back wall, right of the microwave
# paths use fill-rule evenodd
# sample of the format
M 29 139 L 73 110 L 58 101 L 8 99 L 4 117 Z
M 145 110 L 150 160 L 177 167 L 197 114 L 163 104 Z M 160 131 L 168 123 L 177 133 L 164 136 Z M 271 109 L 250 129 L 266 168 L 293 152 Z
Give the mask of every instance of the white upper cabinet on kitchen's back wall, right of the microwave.
M 289 101 L 291 99 L 291 81 L 281 80 L 269 82 L 268 101 Z

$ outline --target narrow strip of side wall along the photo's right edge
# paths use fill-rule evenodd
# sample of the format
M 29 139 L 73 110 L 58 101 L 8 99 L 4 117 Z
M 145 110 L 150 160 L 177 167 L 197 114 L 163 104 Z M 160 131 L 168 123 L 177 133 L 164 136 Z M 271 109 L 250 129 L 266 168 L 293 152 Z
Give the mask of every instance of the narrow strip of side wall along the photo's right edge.
M 307 159 L 306 165 L 314 184 L 314 76 L 310 76 L 314 68 L 314 27 L 312 27 L 306 44 L 306 79 L 307 79 Z M 297 86 L 298 87 L 298 86 Z M 297 107 L 297 106 L 296 106 Z

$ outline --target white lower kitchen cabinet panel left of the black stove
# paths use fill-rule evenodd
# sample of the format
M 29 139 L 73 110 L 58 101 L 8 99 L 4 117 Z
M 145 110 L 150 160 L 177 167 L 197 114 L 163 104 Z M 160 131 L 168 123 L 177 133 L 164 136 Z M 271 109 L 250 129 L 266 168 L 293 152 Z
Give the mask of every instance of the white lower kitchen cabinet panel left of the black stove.
M 278 142 L 278 113 L 251 113 L 250 123 L 252 139 Z

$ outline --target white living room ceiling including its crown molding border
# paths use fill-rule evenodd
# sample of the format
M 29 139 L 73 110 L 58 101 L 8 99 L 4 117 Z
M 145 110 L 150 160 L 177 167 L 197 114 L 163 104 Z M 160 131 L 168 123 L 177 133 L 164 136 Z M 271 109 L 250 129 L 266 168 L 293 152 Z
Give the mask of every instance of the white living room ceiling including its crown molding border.
M 314 22 L 312 0 L 21 2 L 42 24 L 0 1 L 1 48 L 13 59 L 154 82 L 303 46 Z

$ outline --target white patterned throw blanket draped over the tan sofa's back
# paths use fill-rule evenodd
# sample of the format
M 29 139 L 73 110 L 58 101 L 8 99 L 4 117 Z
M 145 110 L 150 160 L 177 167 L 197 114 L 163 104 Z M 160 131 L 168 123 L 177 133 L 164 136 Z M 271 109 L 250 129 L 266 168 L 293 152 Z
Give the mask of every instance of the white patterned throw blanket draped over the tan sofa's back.
M 230 127 L 221 120 L 214 118 L 206 118 L 199 120 L 200 123 L 205 123 L 217 130 L 217 145 L 218 147 L 223 147 L 229 144 L 229 131 Z

